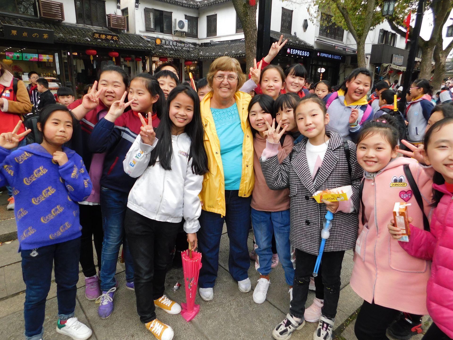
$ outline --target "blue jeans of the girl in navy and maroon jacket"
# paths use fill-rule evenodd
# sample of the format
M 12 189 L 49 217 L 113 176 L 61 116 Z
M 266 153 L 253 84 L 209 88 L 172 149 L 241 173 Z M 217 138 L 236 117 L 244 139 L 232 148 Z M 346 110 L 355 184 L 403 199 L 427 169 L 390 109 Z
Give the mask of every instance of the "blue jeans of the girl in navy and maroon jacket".
M 104 229 L 101 255 L 102 291 L 108 291 L 116 285 L 116 263 L 121 243 L 124 249 L 126 281 L 134 281 L 134 264 L 124 232 L 128 196 L 128 193 L 101 187 L 102 228 Z

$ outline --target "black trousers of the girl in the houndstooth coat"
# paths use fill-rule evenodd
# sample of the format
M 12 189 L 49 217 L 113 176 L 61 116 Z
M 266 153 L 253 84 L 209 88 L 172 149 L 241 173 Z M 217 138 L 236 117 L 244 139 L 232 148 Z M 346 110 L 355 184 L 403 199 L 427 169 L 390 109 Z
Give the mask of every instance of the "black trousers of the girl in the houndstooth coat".
M 322 281 L 324 284 L 323 316 L 333 319 L 337 315 L 338 299 L 341 288 L 341 266 L 344 251 L 323 253 Z M 289 311 L 293 316 L 302 318 L 305 312 L 308 286 L 313 275 L 317 255 L 305 253 L 296 249 L 296 269 L 294 271 L 293 300 Z

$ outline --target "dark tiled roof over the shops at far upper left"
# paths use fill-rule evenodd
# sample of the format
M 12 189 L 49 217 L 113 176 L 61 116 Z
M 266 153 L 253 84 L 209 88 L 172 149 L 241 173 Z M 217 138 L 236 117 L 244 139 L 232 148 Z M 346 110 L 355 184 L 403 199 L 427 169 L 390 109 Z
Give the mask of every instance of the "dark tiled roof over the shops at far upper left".
M 111 32 L 108 29 L 101 28 L 91 28 L 82 25 L 76 24 L 62 24 L 62 23 L 50 23 L 44 22 L 39 19 L 25 19 L 23 17 L 14 17 L 14 16 L 3 16 L 0 15 L 0 24 L 8 24 L 14 26 L 22 27 L 32 27 L 37 29 L 52 29 L 53 30 L 53 39 L 57 43 L 71 43 L 71 44 L 82 44 L 86 46 L 100 46 L 106 48 L 116 48 L 116 49 L 134 49 L 134 50 L 150 50 L 154 47 L 154 44 L 146 41 L 143 36 L 139 34 L 130 34 L 130 33 L 115 33 Z M 3 26 L 1 28 L 1 33 L 3 35 Z M 119 35 L 118 41 L 103 41 L 100 39 L 93 39 L 92 33 L 104 32 L 104 33 L 113 33 Z

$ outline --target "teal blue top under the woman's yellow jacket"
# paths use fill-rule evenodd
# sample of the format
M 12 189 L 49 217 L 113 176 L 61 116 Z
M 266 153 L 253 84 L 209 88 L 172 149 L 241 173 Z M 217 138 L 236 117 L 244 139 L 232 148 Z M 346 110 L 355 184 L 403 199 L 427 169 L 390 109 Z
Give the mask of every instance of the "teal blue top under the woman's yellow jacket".
M 226 109 L 211 107 L 211 113 L 220 141 L 225 190 L 239 190 L 242 175 L 244 131 L 242 131 L 241 117 L 239 117 L 237 105 L 234 103 Z

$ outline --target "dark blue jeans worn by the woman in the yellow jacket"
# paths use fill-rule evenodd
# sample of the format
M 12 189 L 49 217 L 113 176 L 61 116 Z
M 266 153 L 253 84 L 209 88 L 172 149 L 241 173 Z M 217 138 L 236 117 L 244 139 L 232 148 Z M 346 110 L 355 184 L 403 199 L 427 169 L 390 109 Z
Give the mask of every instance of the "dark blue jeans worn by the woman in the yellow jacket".
M 230 239 L 228 269 L 236 281 L 249 277 L 250 267 L 247 238 L 250 228 L 251 197 L 239 197 L 239 190 L 225 190 L 226 215 L 221 216 L 208 211 L 201 211 L 200 230 L 198 230 L 198 249 L 202 253 L 202 267 L 198 284 L 200 288 L 212 288 L 219 269 L 219 248 L 223 222 Z

